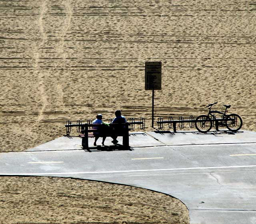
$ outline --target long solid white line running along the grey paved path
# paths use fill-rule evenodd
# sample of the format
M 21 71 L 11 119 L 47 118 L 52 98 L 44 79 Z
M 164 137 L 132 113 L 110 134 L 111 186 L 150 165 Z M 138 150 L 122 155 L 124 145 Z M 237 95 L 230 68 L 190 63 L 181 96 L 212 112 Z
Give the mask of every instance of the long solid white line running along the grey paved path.
M 69 172 L 69 173 L 0 173 L 0 175 L 61 175 L 61 174 L 86 174 L 86 173 L 130 173 L 130 172 L 146 172 L 146 171 L 228 169 L 228 168 L 244 168 L 244 167 L 256 167 L 256 165 L 229 166 L 229 167 L 189 167 L 189 168 L 170 168 L 170 169 L 138 169 L 138 170 L 120 170 L 120 171 L 86 171 L 86 172 Z

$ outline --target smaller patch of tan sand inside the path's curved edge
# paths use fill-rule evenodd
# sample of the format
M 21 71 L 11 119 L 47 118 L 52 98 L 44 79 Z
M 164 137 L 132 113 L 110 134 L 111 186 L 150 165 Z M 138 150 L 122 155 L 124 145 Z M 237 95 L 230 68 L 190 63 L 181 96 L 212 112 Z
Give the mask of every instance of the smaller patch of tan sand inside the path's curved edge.
M 178 199 L 146 189 L 58 177 L 2 178 L 1 223 L 189 223 Z

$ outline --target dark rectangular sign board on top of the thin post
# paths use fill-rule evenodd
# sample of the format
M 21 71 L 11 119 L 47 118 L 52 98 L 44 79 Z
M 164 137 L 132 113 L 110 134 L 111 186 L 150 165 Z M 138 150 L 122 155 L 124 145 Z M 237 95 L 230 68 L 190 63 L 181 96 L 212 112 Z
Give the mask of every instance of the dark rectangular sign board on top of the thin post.
M 145 90 L 161 90 L 162 62 L 145 62 Z

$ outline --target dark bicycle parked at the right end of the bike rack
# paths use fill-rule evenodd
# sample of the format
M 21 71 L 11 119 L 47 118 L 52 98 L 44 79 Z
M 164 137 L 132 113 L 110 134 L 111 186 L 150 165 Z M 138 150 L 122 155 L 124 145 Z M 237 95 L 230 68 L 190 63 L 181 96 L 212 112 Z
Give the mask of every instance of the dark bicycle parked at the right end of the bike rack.
M 227 109 L 230 108 L 230 105 L 224 105 L 226 107 L 225 112 L 220 112 L 218 110 L 211 110 L 211 107 L 214 104 L 217 104 L 218 102 L 215 102 L 213 104 L 208 104 L 206 107 L 208 107 L 209 112 L 208 115 L 200 115 L 195 120 L 195 126 L 196 129 L 199 132 L 206 133 L 211 130 L 212 126 L 214 126 L 214 122 L 219 122 L 219 126 L 226 126 L 228 130 L 232 132 L 237 132 L 242 127 L 242 118 L 237 114 L 226 114 Z M 222 115 L 221 119 L 216 119 L 216 116 L 213 113 L 218 113 Z M 210 117 L 211 116 L 211 117 Z

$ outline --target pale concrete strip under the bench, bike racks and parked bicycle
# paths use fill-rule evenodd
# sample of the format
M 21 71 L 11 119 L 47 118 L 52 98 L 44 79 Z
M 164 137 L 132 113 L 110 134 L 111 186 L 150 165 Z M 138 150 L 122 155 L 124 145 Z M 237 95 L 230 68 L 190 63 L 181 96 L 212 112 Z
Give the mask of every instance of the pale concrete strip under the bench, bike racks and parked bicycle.
M 106 138 L 105 145 L 112 145 L 111 138 Z M 101 145 L 102 138 L 97 142 Z M 122 137 L 118 137 L 122 144 Z M 93 145 L 94 138 L 88 139 L 91 150 L 96 149 Z M 131 147 L 149 147 L 163 145 L 204 145 L 204 144 L 227 144 L 227 143 L 256 143 L 254 132 L 239 131 L 236 134 L 229 131 L 213 131 L 206 134 L 200 132 L 132 132 L 129 142 Z M 82 139 L 77 136 L 60 137 L 55 140 L 38 145 L 28 151 L 52 151 L 52 150 L 73 150 L 82 149 Z

